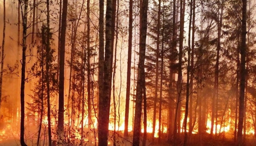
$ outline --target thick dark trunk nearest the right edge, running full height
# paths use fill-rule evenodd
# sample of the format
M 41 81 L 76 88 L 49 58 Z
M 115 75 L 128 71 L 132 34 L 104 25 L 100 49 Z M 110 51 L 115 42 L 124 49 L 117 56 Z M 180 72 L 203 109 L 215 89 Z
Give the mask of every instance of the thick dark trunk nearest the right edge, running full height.
M 240 97 L 239 97 L 239 118 L 238 118 L 238 132 L 237 142 L 238 145 L 243 145 L 242 130 L 243 130 L 243 119 L 244 119 L 244 100 L 245 100 L 245 57 L 246 57 L 246 7 L 247 1 L 242 0 L 242 41 L 241 41 L 241 81 L 240 81 Z

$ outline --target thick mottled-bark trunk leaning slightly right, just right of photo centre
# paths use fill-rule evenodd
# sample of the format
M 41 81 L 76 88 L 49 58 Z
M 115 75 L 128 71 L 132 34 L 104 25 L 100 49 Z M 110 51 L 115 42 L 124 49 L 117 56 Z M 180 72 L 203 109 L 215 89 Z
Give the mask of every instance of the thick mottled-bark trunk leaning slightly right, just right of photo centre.
M 146 51 L 146 37 L 147 37 L 147 18 L 148 18 L 148 0 L 141 0 L 140 2 L 140 37 L 139 37 L 139 63 L 138 63 L 138 76 L 136 87 L 136 104 L 135 104 L 135 117 L 133 128 L 133 146 L 139 146 L 140 132 L 141 132 L 141 113 L 142 113 L 142 89 L 145 72 L 145 51 Z

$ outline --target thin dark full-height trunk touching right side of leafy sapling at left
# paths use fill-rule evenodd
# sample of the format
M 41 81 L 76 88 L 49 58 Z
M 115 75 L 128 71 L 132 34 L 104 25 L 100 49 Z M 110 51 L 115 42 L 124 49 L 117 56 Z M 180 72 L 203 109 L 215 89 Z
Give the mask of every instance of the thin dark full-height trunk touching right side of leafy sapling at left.
M 48 119 L 48 138 L 49 146 L 52 146 L 52 132 L 51 132 L 51 103 L 50 103 L 50 79 L 49 79 L 49 68 L 50 68 L 50 9 L 49 0 L 46 0 L 47 7 L 47 42 L 46 42 L 46 86 L 47 86 L 47 119 Z

